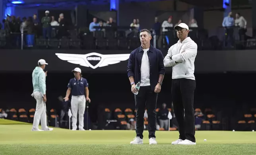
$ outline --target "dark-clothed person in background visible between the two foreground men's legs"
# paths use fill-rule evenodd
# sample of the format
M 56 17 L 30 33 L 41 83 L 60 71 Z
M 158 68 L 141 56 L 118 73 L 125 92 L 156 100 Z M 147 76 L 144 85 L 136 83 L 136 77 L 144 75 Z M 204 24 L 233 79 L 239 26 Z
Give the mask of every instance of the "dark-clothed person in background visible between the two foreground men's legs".
M 168 113 L 169 113 L 169 110 L 166 108 L 166 103 L 163 103 L 162 108 L 159 110 L 158 118 L 159 118 L 160 128 L 164 128 L 165 130 L 168 130 L 169 128 Z

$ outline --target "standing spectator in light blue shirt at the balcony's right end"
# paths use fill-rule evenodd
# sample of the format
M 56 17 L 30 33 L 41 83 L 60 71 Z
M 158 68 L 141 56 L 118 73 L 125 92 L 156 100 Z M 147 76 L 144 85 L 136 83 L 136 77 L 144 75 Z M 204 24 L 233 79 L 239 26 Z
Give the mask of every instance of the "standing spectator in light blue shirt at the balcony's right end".
M 224 17 L 222 26 L 225 28 L 225 46 L 227 46 L 227 43 L 230 44 L 231 47 L 233 47 L 233 33 L 234 33 L 234 18 L 232 17 L 232 12 L 229 12 L 229 15 L 227 17 Z

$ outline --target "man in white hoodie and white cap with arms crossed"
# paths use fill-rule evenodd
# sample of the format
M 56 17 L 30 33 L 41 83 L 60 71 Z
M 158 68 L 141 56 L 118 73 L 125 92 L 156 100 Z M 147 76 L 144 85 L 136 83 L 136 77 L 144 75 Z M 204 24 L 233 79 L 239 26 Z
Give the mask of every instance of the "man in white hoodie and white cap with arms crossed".
M 185 23 L 180 23 L 174 29 L 177 31 L 179 40 L 169 48 L 164 59 L 165 67 L 173 67 L 173 108 L 180 134 L 179 139 L 172 144 L 196 145 L 193 104 L 196 89 L 194 61 L 197 44 L 188 37 L 189 29 Z

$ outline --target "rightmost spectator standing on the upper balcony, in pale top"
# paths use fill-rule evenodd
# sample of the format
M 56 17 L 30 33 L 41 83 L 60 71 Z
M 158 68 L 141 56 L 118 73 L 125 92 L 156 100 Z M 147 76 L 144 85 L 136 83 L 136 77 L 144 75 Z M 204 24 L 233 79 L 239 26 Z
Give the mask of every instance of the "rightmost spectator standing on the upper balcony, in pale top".
M 239 26 L 238 33 L 239 33 L 240 41 L 245 40 L 246 25 L 247 25 L 247 21 L 244 19 L 244 17 L 241 16 L 239 12 L 236 13 L 235 26 Z

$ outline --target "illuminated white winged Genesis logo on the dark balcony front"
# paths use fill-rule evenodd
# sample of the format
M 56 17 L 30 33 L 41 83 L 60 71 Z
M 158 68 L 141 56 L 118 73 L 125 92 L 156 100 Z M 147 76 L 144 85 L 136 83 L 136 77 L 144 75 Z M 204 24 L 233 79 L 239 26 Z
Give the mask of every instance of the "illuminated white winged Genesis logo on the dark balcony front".
M 93 69 L 98 67 L 109 66 L 109 64 L 117 64 L 121 61 L 129 59 L 130 54 L 109 54 L 103 55 L 99 53 L 88 54 L 64 54 L 55 53 L 61 60 L 68 61 L 72 64 L 79 64 L 80 66 L 91 67 Z

